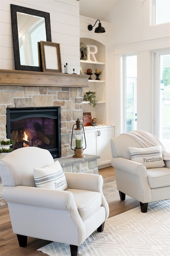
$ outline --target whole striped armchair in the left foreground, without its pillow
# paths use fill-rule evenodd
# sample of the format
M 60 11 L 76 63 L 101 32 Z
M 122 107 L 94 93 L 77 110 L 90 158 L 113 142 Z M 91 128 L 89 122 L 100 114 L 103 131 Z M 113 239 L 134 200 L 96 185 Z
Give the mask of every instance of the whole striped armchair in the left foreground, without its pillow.
M 20 247 L 27 236 L 70 245 L 71 255 L 96 229 L 101 232 L 109 215 L 98 174 L 64 173 L 67 189 L 40 188 L 33 170 L 54 164 L 46 149 L 19 148 L 0 161 L 3 198 L 8 202 L 12 229 Z

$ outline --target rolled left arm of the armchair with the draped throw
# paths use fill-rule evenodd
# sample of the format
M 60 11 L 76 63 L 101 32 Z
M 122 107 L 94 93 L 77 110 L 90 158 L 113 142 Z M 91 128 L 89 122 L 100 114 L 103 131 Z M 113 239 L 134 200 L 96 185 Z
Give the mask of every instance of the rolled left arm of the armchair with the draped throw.
M 112 157 L 111 165 L 118 170 L 122 170 L 132 175 L 140 176 L 140 174 L 142 174 L 142 176 L 147 177 L 146 166 L 138 162 L 122 157 Z

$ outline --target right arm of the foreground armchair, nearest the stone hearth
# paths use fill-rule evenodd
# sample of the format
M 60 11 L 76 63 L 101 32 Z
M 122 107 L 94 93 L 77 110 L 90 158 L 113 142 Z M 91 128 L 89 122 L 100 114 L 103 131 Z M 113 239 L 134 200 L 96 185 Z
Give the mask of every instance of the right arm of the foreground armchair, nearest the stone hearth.
M 103 195 L 103 177 L 99 174 L 92 173 L 65 172 L 64 174 L 68 188 L 89 190 L 99 192 L 101 194 L 101 202 L 102 206 L 105 208 L 107 219 L 109 216 L 109 205 Z

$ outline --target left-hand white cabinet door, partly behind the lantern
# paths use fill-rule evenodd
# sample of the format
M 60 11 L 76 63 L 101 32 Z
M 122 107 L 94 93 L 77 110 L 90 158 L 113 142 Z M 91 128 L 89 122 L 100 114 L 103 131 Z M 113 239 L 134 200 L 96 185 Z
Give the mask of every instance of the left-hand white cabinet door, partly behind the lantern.
M 86 149 L 84 149 L 83 154 L 97 155 L 96 149 L 96 131 L 85 130 L 86 136 Z M 83 148 L 85 148 L 85 143 L 83 141 Z

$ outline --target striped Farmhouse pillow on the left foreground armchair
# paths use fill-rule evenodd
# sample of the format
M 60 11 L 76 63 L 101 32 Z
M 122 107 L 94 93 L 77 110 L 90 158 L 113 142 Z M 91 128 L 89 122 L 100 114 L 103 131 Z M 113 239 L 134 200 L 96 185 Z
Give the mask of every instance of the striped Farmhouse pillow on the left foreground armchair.
M 37 188 L 67 189 L 67 181 L 58 160 L 45 168 L 34 168 L 33 174 Z

